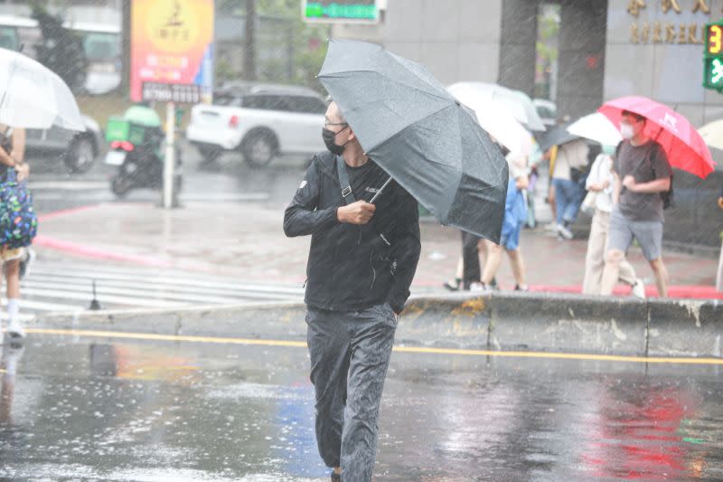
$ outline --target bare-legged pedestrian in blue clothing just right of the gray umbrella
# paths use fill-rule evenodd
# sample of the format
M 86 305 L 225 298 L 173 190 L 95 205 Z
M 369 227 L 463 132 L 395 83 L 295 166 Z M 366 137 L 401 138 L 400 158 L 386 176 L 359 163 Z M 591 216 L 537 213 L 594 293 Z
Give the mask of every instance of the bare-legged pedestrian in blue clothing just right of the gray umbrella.
M 502 262 L 502 248 L 510 258 L 515 290 L 528 290 L 525 265 L 520 250 L 520 234 L 522 227 L 527 222 L 527 201 L 524 195 L 530 179 L 527 157 L 509 158 L 508 156 L 508 164 L 510 165 L 510 179 L 507 186 L 507 199 L 504 204 L 504 221 L 502 222 L 500 244 L 483 240 L 487 247 L 487 256 L 484 261 L 482 282 L 473 283 L 470 288 L 471 291 L 486 291 L 492 288 L 492 281 L 497 275 L 497 270 L 500 269 L 500 263 Z

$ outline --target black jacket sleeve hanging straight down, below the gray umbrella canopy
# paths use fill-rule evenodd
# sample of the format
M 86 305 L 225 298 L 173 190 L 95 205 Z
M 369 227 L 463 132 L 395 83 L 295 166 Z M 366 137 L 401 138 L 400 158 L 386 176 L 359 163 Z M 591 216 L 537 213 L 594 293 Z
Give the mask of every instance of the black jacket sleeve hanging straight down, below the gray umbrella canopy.
M 397 261 L 397 272 L 390 289 L 388 302 L 395 313 L 404 310 L 409 298 L 409 287 L 417 272 L 419 252 L 419 208 L 417 200 L 399 187 L 399 212 L 397 233 L 391 250 L 392 259 Z

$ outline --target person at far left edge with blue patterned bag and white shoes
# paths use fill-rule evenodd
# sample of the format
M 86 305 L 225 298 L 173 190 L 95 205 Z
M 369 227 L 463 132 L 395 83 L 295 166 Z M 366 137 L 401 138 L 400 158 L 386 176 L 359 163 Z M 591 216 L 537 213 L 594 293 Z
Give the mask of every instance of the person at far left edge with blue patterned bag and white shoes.
M 3 262 L 9 336 L 23 338 L 20 320 L 20 264 L 37 230 L 33 203 L 23 185 L 30 174 L 24 162 L 25 130 L 0 125 L 0 260 Z

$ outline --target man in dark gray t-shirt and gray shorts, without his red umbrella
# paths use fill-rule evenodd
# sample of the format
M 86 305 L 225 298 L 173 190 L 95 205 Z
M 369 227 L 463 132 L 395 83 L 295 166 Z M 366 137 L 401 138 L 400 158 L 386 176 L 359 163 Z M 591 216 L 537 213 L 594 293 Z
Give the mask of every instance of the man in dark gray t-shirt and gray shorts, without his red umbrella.
M 650 263 L 658 293 L 668 296 L 668 271 L 662 262 L 662 193 L 671 189 L 671 165 L 662 146 L 644 132 L 646 118 L 623 111 L 621 134 L 613 170 L 615 207 L 610 214 L 608 249 L 603 271 L 603 295 L 613 293 L 620 279 L 620 264 L 633 239 Z

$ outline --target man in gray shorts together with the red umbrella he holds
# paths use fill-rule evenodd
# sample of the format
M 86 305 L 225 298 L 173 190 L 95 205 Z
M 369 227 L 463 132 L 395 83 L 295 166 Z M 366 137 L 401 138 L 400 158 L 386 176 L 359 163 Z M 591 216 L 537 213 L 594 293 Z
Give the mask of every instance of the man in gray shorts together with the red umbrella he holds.
M 624 97 L 606 102 L 598 111 L 619 126 L 624 137 L 614 165 L 616 205 L 610 217 L 602 294 L 613 292 L 620 261 L 635 238 L 653 269 L 659 295 L 667 297 L 662 210 L 663 195 L 671 194 L 671 167 L 705 178 L 716 163 L 690 121 L 661 103 Z

